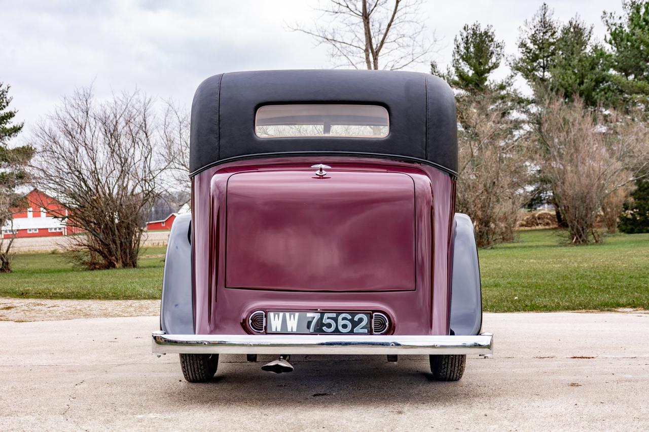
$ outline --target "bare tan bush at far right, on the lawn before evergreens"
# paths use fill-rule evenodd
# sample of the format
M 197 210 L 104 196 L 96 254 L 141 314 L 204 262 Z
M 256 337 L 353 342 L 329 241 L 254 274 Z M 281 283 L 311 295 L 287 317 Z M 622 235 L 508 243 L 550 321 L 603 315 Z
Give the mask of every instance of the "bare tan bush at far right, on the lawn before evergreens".
M 647 125 L 615 113 L 586 110 L 583 102 L 548 96 L 537 121 L 537 163 L 550 182 L 574 244 L 599 241 L 593 229 L 605 198 L 649 167 Z

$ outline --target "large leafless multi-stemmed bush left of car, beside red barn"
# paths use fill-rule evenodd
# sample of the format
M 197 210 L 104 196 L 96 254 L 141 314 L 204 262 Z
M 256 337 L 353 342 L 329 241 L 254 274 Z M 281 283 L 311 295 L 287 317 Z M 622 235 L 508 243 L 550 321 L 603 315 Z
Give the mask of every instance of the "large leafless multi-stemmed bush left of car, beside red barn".
M 152 101 L 139 92 L 65 97 L 34 133 L 33 182 L 54 195 L 67 219 L 73 261 L 89 269 L 137 267 L 145 215 L 158 197 L 165 134 Z

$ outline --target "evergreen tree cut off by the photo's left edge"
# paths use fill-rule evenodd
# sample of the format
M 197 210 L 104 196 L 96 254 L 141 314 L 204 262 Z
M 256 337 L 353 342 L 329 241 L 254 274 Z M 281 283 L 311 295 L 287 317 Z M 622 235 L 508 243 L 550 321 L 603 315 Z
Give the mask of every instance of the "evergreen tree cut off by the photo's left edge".
M 0 226 L 11 226 L 12 208 L 22 199 L 16 193 L 16 187 L 27 180 L 25 166 L 33 154 L 29 146 L 9 147 L 9 141 L 16 138 L 23 128 L 23 123 L 13 123 L 16 110 L 8 109 L 12 101 L 9 89 L 10 86 L 0 82 Z M 0 272 L 11 271 L 12 241 L 13 237 L 0 237 Z

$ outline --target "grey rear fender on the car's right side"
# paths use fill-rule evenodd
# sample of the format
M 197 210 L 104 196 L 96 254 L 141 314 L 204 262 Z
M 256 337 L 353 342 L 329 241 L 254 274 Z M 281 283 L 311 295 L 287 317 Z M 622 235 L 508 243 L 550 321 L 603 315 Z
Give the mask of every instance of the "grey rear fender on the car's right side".
M 478 248 L 471 218 L 455 213 L 450 300 L 452 335 L 478 335 L 482 327 L 482 288 Z

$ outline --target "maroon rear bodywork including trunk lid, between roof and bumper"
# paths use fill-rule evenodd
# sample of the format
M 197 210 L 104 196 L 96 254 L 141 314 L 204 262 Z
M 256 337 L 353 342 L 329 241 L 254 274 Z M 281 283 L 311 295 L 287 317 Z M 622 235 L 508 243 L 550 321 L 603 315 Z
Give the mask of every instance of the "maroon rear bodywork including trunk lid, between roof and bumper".
M 312 178 L 321 162 L 330 178 Z M 222 163 L 192 182 L 195 333 L 251 333 L 256 310 L 321 310 L 381 311 L 395 335 L 448 334 L 448 174 L 293 156 Z

